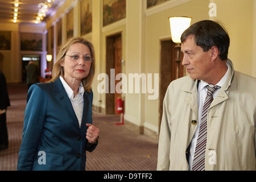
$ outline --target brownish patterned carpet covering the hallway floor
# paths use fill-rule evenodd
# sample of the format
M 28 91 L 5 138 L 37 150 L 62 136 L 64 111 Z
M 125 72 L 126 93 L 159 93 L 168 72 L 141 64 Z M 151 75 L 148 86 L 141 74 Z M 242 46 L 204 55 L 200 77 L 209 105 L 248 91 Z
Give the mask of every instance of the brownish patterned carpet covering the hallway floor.
M 22 141 L 27 85 L 8 84 L 11 106 L 7 110 L 9 148 L 0 151 L 0 171 L 16 170 Z M 117 126 L 119 117 L 93 113 L 93 124 L 100 129 L 100 142 L 87 152 L 88 171 L 154 171 L 158 141 L 139 135 L 125 126 Z

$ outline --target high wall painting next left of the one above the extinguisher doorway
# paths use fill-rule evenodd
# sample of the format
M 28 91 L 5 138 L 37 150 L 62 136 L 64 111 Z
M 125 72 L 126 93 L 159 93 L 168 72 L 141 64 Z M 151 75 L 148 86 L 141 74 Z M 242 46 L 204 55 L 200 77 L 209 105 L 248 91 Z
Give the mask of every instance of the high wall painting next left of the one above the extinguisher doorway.
M 92 0 L 81 1 L 81 35 L 92 32 Z

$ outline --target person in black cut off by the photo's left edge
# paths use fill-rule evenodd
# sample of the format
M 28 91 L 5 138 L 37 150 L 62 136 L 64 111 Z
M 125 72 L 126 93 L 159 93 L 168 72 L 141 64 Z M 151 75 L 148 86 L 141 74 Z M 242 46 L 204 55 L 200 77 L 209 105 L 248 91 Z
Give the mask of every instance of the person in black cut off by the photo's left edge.
M 8 132 L 6 126 L 6 111 L 10 106 L 5 75 L 0 71 L 0 150 L 8 148 Z

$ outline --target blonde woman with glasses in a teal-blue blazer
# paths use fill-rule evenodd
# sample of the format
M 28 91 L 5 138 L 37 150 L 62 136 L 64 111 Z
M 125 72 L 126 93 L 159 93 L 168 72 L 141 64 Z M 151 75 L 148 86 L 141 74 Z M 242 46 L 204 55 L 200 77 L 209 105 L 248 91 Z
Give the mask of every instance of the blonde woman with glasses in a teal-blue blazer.
M 71 38 L 60 48 L 48 83 L 28 90 L 18 170 L 85 170 L 98 144 L 92 125 L 92 43 Z

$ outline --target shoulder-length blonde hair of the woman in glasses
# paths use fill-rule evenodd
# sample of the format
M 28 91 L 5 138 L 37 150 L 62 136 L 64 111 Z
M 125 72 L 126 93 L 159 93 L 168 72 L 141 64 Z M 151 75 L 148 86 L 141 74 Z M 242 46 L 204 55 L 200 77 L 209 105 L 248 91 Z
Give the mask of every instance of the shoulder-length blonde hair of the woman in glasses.
M 56 57 L 56 62 L 52 68 L 52 79 L 49 82 L 55 81 L 59 76 L 64 77 L 64 68 L 60 65 L 63 63 L 65 59 L 65 55 L 68 52 L 69 47 L 71 47 L 75 43 L 82 43 L 90 49 L 90 55 L 92 56 L 92 64 L 90 65 L 90 72 L 87 77 L 82 78 L 82 86 L 84 86 L 84 90 L 90 93 L 90 89 L 92 89 L 92 81 L 95 74 L 95 52 L 93 44 L 89 41 L 85 40 L 81 37 L 71 38 L 60 47 L 59 53 Z

